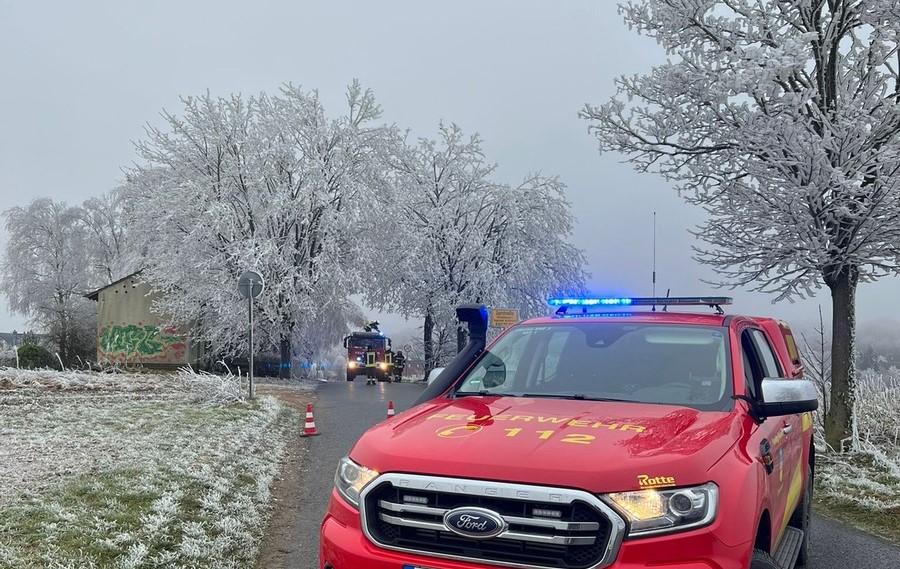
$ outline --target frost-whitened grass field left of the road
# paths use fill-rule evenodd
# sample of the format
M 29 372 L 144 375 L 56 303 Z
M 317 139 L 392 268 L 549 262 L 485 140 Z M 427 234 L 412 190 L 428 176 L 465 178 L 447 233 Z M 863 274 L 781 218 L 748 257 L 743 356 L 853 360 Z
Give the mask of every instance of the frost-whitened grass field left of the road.
M 252 567 L 297 421 L 235 377 L 0 369 L 0 568 Z

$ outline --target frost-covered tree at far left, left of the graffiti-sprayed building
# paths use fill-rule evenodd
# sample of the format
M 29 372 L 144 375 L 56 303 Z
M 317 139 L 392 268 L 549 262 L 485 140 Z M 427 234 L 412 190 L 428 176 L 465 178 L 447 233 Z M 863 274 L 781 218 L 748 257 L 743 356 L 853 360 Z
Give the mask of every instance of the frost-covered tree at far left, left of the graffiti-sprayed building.
M 96 284 L 82 210 L 51 199 L 3 212 L 8 241 L 0 282 L 10 311 L 48 334 L 66 365 L 93 355 Z

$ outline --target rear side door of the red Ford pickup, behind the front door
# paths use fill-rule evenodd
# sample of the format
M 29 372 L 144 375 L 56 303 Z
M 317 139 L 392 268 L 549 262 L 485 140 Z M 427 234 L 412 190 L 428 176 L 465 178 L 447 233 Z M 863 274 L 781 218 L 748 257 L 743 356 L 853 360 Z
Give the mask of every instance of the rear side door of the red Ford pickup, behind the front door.
M 761 329 L 752 329 L 750 333 L 757 353 L 761 357 L 766 378 L 775 379 L 776 381 L 791 381 L 791 379 L 785 377 L 788 372 L 782 369 L 782 365 L 775 356 L 772 341 L 767 333 Z M 794 511 L 803 487 L 802 425 L 799 415 L 772 417 L 767 419 L 766 422 L 776 424 L 780 428 L 780 431 L 776 432 L 772 439 L 773 457 L 775 458 L 775 472 L 773 476 L 777 476 L 778 485 L 781 488 L 782 503 L 784 504 L 781 518 L 773 517 L 773 522 L 776 520 L 780 522 L 780 526 L 776 526 L 780 535 Z

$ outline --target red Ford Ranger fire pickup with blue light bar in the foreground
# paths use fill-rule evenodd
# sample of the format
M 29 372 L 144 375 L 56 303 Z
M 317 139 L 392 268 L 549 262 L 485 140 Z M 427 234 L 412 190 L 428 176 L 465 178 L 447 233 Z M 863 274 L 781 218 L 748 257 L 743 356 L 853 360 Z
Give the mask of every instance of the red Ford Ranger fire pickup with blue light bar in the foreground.
M 559 298 L 344 458 L 320 569 L 808 566 L 815 385 L 725 297 Z M 710 306 L 713 314 L 635 310 Z

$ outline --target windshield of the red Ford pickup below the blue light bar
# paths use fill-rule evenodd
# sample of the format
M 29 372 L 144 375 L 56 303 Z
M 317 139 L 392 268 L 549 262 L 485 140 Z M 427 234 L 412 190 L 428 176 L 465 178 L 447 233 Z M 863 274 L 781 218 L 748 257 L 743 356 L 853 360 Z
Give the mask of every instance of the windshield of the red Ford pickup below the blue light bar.
M 511 330 L 456 396 L 565 397 L 731 408 L 725 329 L 572 323 Z

